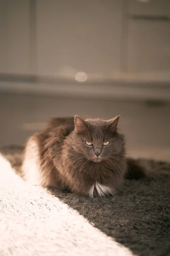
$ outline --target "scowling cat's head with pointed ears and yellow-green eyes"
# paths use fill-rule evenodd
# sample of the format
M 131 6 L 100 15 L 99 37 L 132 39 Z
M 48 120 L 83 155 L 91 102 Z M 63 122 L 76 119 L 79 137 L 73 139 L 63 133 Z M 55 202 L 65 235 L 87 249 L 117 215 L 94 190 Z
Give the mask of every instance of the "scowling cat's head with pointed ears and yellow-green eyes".
M 83 120 L 75 116 L 74 150 L 94 162 L 124 153 L 124 136 L 117 131 L 120 116 L 110 120 Z

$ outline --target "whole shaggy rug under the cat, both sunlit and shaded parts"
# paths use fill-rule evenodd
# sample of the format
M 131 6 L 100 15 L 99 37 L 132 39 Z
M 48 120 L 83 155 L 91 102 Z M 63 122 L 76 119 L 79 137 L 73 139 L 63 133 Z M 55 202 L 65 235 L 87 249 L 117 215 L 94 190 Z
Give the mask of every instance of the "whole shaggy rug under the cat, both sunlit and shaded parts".
M 0 256 L 170 255 L 170 163 L 139 160 L 147 177 L 91 199 L 29 185 L 21 149 L 1 152 Z

